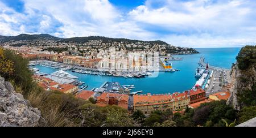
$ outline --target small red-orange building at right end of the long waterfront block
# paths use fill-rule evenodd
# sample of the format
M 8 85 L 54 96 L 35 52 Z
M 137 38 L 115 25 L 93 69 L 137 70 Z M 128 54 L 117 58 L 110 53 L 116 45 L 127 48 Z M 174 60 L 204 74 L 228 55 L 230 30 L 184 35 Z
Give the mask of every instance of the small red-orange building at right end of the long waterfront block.
M 190 104 L 204 101 L 207 98 L 205 97 L 205 90 L 203 89 L 190 90 L 189 97 L 190 97 Z

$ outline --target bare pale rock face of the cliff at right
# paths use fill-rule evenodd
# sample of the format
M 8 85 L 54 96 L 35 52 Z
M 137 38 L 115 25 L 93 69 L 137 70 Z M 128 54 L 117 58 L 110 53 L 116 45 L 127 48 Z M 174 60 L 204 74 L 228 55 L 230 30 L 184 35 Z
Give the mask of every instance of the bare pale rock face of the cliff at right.
M 240 70 L 238 64 L 232 67 L 232 88 L 230 89 L 230 97 L 227 101 L 228 105 L 232 105 L 234 109 L 241 110 L 241 103 L 239 103 L 237 95 L 245 90 L 252 90 L 253 85 L 256 84 L 256 68 L 250 66 L 246 70 Z

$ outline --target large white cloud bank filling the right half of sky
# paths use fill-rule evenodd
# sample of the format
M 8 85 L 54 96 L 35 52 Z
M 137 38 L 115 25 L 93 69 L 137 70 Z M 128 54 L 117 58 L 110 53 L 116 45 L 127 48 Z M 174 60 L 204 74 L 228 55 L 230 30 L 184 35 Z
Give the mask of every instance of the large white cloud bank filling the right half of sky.
M 255 42 L 255 3 L 251 1 L 158 1 L 129 12 L 130 19 L 156 25 L 171 34 L 159 37 L 174 45 L 183 46 L 237 46 Z M 148 26 L 150 26 L 148 25 Z M 245 29 L 247 28 L 247 29 Z

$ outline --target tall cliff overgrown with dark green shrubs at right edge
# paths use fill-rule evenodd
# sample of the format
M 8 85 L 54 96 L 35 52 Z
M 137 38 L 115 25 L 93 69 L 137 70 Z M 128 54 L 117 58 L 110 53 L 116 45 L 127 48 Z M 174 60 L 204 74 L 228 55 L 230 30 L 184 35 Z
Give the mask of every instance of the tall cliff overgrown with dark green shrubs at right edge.
M 256 117 L 256 46 L 243 47 L 236 59 L 232 93 L 237 96 L 233 100 L 237 100 L 241 108 L 239 121 L 242 123 Z

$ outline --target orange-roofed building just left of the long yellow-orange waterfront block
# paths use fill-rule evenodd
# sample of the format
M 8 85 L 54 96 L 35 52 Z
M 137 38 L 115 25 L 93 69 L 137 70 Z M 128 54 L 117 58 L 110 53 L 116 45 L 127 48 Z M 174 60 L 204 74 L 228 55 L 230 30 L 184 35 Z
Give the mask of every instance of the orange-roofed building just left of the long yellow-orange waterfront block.
M 97 97 L 96 105 L 107 106 L 117 105 L 124 109 L 128 109 L 129 96 L 127 94 L 118 93 L 102 93 L 101 96 Z

